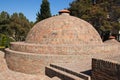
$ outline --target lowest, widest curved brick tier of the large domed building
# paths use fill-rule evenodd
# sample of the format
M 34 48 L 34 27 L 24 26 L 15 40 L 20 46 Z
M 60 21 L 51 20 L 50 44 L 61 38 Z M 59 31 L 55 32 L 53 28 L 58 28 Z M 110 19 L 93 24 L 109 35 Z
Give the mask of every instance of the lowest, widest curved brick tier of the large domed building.
M 6 49 L 6 62 L 10 69 L 28 74 L 45 74 L 50 63 L 71 63 L 82 59 L 81 55 L 32 54 Z

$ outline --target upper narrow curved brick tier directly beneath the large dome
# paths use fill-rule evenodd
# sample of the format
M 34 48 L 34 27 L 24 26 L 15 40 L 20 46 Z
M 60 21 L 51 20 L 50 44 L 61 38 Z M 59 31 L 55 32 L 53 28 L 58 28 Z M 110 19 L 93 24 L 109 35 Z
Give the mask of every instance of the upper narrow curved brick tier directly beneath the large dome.
M 13 51 L 35 53 L 35 54 L 83 54 L 83 53 L 100 53 L 117 49 L 116 45 L 40 45 L 28 44 L 24 42 L 12 42 L 10 49 Z

